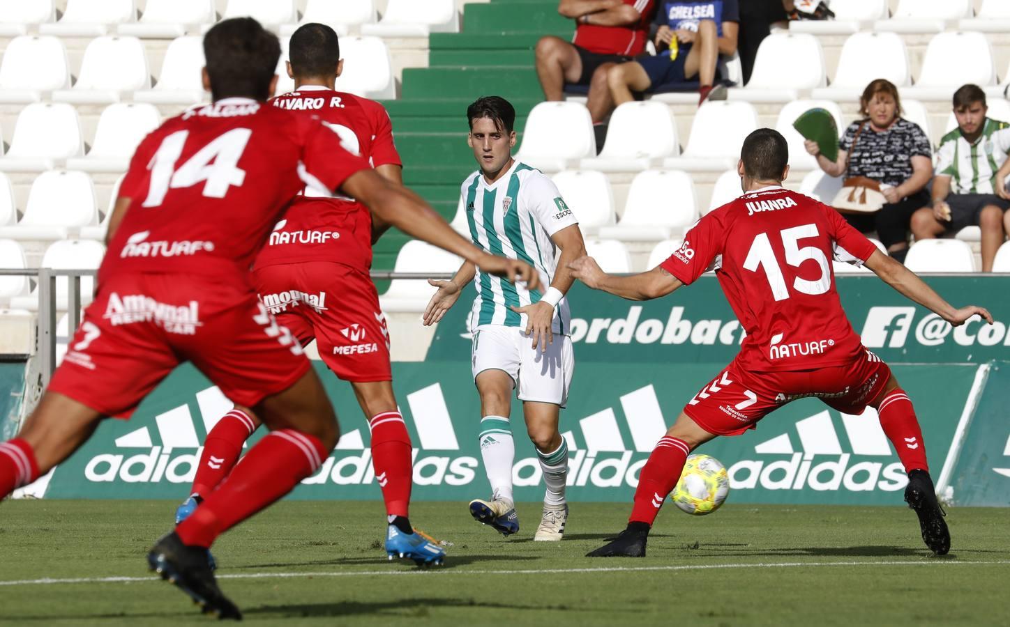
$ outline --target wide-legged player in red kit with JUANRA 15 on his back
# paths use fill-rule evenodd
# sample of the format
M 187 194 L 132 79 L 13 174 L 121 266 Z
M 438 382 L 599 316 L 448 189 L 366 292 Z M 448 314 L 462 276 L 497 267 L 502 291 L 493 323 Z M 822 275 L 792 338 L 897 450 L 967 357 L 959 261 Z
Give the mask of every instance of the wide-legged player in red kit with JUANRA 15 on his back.
M 937 554 L 950 548 L 926 464 L 912 401 L 887 364 L 863 346 L 835 291 L 832 257 L 866 264 L 898 292 L 954 327 L 983 307 L 954 308 L 905 266 L 877 250 L 836 211 L 781 186 L 789 173 L 786 140 L 758 129 L 743 142 L 737 170 L 743 196 L 707 214 L 659 267 L 611 276 L 583 257 L 575 275 L 594 289 L 630 300 L 665 296 L 715 269 L 722 291 L 746 331 L 740 352 L 688 401 L 660 440 L 638 480 L 627 528 L 589 556 L 645 554 L 648 530 L 680 479 L 688 455 L 716 435 L 737 435 L 801 396 L 819 397 L 845 413 L 877 409 L 881 426 L 908 473 L 905 501 L 918 515 L 922 539 Z

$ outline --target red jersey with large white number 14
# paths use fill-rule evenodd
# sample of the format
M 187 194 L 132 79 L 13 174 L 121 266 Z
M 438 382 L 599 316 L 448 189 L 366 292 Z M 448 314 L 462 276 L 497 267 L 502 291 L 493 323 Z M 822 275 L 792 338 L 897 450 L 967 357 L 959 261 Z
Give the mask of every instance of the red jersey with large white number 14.
M 336 190 L 368 166 L 309 116 L 247 98 L 190 109 L 133 154 L 119 189 L 132 202 L 99 281 L 124 272 L 243 276 L 299 190 Z

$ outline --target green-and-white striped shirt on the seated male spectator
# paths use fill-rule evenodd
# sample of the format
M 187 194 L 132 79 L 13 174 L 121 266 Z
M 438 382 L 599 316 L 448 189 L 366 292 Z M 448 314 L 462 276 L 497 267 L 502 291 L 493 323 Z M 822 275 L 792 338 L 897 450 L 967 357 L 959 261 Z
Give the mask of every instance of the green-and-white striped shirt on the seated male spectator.
M 951 194 L 995 194 L 996 171 L 1007 160 L 1008 150 L 1010 124 L 986 118 L 974 144 L 956 128 L 940 139 L 935 173 L 950 176 Z

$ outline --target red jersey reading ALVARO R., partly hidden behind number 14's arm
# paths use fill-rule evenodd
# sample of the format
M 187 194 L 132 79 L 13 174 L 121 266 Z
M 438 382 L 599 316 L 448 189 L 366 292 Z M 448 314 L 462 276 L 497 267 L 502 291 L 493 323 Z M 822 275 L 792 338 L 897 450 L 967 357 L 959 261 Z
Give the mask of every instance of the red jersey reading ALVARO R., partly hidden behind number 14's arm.
M 303 86 L 270 103 L 279 109 L 319 116 L 373 167 L 401 164 L 389 114 L 377 102 Z M 372 267 L 369 209 L 354 199 L 319 194 L 311 187 L 299 194 L 270 234 L 256 267 L 305 261 L 332 261 L 367 272 Z

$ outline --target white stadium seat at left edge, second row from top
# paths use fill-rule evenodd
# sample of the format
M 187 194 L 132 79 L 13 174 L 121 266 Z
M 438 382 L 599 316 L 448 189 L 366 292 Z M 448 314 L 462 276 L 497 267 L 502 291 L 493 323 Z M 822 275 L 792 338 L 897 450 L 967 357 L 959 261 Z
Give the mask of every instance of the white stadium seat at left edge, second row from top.
M 39 102 L 45 92 L 70 87 L 67 48 L 58 37 L 11 39 L 0 62 L 0 103 Z

